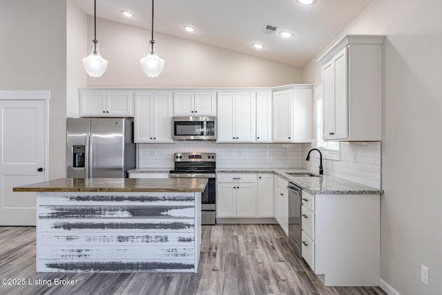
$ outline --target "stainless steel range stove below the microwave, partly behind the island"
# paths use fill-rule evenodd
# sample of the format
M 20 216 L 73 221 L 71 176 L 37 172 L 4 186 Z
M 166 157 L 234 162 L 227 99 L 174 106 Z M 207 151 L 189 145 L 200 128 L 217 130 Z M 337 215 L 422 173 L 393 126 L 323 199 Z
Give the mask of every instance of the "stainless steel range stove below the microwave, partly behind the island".
M 216 224 L 215 153 L 175 153 L 175 169 L 170 178 L 208 178 L 206 189 L 201 194 L 201 224 Z

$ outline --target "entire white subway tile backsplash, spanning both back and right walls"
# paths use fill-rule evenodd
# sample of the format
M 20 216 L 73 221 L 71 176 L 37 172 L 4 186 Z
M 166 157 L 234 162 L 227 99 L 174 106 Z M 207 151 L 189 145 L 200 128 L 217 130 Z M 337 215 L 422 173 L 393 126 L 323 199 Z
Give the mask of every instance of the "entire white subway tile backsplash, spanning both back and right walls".
M 210 141 L 138 144 L 139 168 L 173 168 L 173 153 L 216 153 L 218 168 L 304 168 L 318 172 L 316 144 L 217 144 Z M 340 160 L 323 160 L 324 173 L 381 188 L 381 142 L 341 142 Z

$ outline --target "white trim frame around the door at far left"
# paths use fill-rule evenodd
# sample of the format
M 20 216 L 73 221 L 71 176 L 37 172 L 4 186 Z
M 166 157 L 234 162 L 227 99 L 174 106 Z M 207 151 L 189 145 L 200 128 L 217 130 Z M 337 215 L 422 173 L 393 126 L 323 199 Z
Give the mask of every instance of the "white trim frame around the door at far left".
M 44 180 L 49 179 L 49 99 L 50 91 L 0 91 L 1 100 L 44 100 Z

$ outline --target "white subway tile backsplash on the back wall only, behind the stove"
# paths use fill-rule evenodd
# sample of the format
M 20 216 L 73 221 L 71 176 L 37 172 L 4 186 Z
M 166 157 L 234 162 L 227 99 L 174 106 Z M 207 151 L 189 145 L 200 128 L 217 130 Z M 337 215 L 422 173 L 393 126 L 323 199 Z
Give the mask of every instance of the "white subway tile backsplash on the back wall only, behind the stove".
M 173 153 L 216 153 L 218 168 L 301 168 L 302 144 L 220 144 L 210 141 L 138 144 L 138 167 L 171 168 Z

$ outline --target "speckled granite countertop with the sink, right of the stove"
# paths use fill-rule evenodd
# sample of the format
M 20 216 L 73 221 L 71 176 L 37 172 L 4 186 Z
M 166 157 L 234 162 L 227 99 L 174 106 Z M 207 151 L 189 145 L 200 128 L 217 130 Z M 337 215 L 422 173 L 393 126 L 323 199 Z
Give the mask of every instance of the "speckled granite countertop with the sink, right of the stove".
M 274 173 L 281 178 L 293 182 L 301 189 L 312 194 L 382 194 L 382 189 L 375 189 L 364 184 L 345 180 L 343 178 L 337 178 L 330 175 L 322 175 L 320 177 L 296 177 L 287 174 L 287 172 L 305 172 L 314 173 L 306 169 L 269 169 L 269 168 L 253 168 L 253 169 L 217 169 L 217 173 Z

